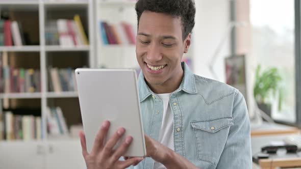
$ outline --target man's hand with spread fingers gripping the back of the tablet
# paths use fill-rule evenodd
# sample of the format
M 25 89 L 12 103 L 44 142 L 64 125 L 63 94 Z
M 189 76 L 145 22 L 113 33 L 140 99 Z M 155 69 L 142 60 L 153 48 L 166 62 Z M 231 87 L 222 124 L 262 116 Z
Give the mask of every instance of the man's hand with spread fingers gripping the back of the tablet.
M 105 121 L 98 131 L 93 148 L 90 154 L 87 152 L 86 138 L 83 131 L 80 132 L 81 145 L 83 156 L 87 165 L 87 169 L 100 169 L 100 168 L 126 168 L 133 164 L 138 164 L 143 158 L 135 157 L 130 158 L 125 161 L 120 161 L 119 158 L 127 151 L 133 138 L 127 136 L 123 143 L 116 150 L 113 147 L 116 145 L 120 137 L 126 131 L 124 128 L 119 128 L 114 135 L 108 140 L 108 142 L 103 145 L 105 136 L 107 135 L 110 122 Z

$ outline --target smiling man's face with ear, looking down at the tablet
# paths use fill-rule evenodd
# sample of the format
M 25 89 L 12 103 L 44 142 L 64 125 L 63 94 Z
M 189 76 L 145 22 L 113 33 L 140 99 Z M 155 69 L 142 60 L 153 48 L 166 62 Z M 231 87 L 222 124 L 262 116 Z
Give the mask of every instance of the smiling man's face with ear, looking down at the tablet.
M 136 57 L 146 81 L 151 86 L 177 82 L 190 45 L 190 34 L 182 39 L 181 18 L 144 11 L 138 24 Z

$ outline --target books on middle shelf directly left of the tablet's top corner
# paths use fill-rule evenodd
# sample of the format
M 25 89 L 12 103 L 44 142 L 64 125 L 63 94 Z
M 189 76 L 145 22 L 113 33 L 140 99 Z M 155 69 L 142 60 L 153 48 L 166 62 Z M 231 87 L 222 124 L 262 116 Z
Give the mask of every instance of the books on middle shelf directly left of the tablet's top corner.
M 49 68 L 49 91 L 70 92 L 77 91 L 75 72 L 71 68 Z

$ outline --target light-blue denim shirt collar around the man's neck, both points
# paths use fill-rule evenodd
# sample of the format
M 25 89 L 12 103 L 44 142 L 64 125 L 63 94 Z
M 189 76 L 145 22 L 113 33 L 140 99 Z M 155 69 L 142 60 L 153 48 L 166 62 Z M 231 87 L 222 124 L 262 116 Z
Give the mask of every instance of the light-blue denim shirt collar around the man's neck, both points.
M 185 62 L 182 62 L 181 66 L 182 66 L 182 69 L 184 70 L 184 77 L 180 84 L 180 87 L 172 93 L 177 93 L 181 90 L 183 90 L 186 93 L 190 93 L 190 94 L 197 93 L 196 87 L 195 87 L 194 74 L 192 73 L 192 71 L 189 69 L 188 65 Z M 138 77 L 138 86 L 139 86 L 140 102 L 145 100 L 149 95 L 154 94 L 148 88 L 142 71 L 140 71 L 140 74 Z

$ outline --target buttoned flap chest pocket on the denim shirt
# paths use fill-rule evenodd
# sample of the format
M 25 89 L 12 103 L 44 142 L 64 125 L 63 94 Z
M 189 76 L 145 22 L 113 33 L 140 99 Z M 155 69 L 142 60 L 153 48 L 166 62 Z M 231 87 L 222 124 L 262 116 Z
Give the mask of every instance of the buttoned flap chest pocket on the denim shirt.
M 191 121 L 198 160 L 217 164 L 232 125 L 231 116 Z

